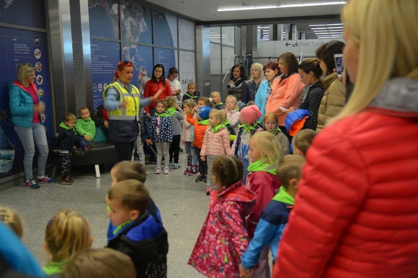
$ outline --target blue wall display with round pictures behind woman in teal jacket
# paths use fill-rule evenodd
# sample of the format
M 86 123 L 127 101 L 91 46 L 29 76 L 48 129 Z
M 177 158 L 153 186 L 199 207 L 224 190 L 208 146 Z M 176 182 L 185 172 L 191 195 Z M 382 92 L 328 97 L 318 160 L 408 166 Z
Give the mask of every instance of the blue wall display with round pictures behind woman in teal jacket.
M 11 122 L 8 89 L 9 83 L 17 79 L 17 67 L 21 63 L 30 63 L 35 67 L 39 104 L 45 106 L 41 120 L 50 144 L 53 131 L 46 34 L 0 27 L 0 45 L 4 47 L 1 56 L 4 70 L 0 74 L 0 179 L 2 179 L 23 171 L 24 150 Z M 36 158 L 34 163 L 36 164 Z

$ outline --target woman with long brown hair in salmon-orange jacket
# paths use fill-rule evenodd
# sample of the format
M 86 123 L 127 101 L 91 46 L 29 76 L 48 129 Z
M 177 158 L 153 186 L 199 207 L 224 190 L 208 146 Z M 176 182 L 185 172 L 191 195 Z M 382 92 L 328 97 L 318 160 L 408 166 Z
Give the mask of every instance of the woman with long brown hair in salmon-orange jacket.
M 298 74 L 299 63 L 293 53 L 283 53 L 277 61 L 283 74 L 273 82 L 273 91 L 267 98 L 265 112 L 274 112 L 279 116 L 279 128 L 290 141 L 291 137 L 285 127 L 286 114 L 279 107 L 288 109 L 293 106 L 298 108 L 303 83 Z

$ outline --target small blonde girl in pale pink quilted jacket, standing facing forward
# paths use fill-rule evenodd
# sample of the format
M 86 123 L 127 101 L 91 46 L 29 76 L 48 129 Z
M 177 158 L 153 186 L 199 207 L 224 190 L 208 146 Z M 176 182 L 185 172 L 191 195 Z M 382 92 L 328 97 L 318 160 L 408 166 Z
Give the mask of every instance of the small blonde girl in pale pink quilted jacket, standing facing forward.
M 212 109 L 209 113 L 210 127 L 205 131 L 200 159 L 206 161 L 208 165 L 208 178 L 206 185 L 206 195 L 210 194 L 212 186 L 212 162 L 216 156 L 231 153 L 229 144 L 229 133 L 225 126 L 226 114 L 223 110 Z

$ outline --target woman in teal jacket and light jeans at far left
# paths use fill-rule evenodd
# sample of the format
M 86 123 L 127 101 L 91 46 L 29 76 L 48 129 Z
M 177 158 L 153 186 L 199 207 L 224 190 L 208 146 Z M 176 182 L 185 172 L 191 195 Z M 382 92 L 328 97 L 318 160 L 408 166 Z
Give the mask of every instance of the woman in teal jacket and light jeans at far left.
M 26 187 L 39 188 L 39 184 L 53 184 L 55 179 L 45 175 L 48 159 L 48 141 L 42 126 L 40 113 L 45 107 L 39 104 L 36 90 L 35 67 L 30 63 L 19 64 L 18 80 L 9 84 L 9 104 L 15 131 L 25 150 L 23 167 L 25 169 Z M 32 164 L 35 155 L 35 144 L 39 150 L 38 177 L 33 178 Z

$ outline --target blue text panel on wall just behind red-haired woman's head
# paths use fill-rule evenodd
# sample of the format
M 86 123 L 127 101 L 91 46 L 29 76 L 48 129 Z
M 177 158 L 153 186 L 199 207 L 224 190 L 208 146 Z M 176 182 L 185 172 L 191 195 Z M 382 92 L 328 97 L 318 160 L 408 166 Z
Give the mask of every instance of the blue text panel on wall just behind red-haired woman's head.
M 116 66 L 120 61 L 119 43 L 101 40 L 90 40 L 91 70 L 92 70 L 92 94 L 93 107 L 103 103 L 103 91 L 113 82 Z

